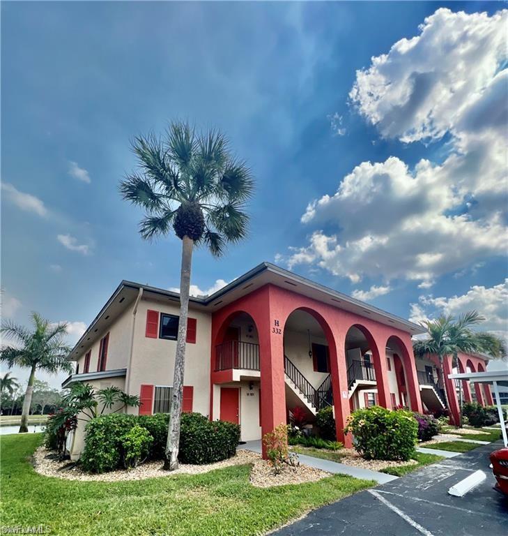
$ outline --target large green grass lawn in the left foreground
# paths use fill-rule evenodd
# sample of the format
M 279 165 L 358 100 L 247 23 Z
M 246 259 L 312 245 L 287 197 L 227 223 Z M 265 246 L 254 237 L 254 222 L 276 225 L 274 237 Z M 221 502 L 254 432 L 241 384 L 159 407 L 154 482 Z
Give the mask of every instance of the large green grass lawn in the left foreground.
M 259 535 L 318 506 L 373 486 L 334 475 L 255 488 L 249 466 L 131 482 L 76 482 L 39 475 L 29 462 L 40 434 L 1 439 L 3 526 L 48 526 L 57 535 Z

